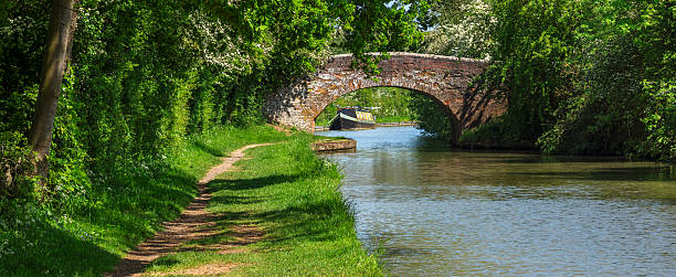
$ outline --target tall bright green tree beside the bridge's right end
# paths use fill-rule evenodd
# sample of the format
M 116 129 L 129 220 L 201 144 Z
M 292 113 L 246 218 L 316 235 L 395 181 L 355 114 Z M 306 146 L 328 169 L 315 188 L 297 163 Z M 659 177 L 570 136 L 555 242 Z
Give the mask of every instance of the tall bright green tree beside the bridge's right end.
M 564 100 L 559 90 L 572 82 L 566 62 L 575 44 L 578 15 L 572 1 L 489 1 L 497 24 L 490 53 L 492 78 L 507 86 L 509 114 L 526 122 L 524 138 L 535 140 L 553 122 Z M 499 68 L 499 70 L 498 70 Z

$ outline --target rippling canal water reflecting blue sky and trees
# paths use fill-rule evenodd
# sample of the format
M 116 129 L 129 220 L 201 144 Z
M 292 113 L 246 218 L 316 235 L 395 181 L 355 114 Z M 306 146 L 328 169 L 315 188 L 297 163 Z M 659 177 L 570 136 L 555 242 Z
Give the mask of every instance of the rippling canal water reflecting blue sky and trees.
M 394 276 L 676 276 L 676 177 L 615 158 L 457 151 L 413 127 L 325 131 L 357 233 Z

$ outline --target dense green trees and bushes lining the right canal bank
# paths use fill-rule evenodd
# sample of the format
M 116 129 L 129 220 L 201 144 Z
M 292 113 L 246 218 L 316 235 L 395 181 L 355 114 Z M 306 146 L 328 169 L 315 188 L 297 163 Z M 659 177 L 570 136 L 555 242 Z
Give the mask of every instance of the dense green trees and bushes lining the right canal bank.
M 461 143 L 676 160 L 674 1 L 456 0 L 436 10 L 421 51 L 489 57 L 480 83 L 508 103 Z

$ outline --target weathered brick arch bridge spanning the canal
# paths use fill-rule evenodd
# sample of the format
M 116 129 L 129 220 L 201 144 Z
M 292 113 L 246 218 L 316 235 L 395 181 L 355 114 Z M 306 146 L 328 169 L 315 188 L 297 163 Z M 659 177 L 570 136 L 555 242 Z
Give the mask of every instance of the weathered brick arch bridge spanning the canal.
M 435 99 L 456 122 L 456 134 L 501 114 L 505 105 L 471 87 L 486 61 L 414 53 L 390 53 L 379 64 L 378 82 L 352 70 L 352 56 L 331 56 L 317 73 L 270 95 L 263 115 L 271 122 L 313 132 L 315 119 L 334 100 L 353 90 L 389 86 L 423 93 Z

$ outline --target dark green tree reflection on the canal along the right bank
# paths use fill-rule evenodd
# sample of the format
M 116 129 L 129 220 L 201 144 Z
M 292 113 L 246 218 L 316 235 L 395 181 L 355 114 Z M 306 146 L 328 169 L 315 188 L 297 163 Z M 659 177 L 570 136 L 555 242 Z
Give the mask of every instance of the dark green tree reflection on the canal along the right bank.
M 405 195 L 430 200 L 625 199 L 676 203 L 676 177 L 651 162 L 540 162 L 530 155 L 411 149 L 377 151 L 363 159 L 363 173 L 369 174 L 363 181 L 376 185 L 371 191 L 376 199 Z

